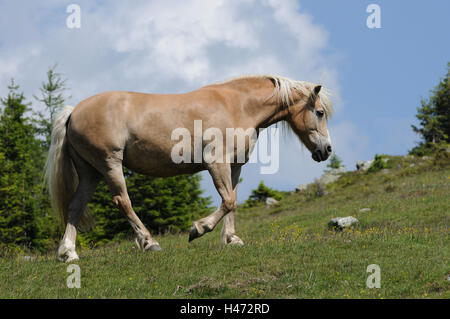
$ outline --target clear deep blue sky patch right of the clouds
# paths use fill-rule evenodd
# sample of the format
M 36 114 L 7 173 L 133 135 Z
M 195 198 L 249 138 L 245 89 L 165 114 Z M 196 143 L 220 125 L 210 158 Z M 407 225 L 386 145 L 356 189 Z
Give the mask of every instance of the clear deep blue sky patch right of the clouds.
M 323 4 L 327 6 L 324 7 Z M 381 29 L 365 27 L 370 3 L 381 7 Z M 367 133 L 371 153 L 404 154 L 417 136 L 420 98 L 450 61 L 448 1 L 304 1 L 303 8 L 330 33 L 338 62 L 346 118 Z

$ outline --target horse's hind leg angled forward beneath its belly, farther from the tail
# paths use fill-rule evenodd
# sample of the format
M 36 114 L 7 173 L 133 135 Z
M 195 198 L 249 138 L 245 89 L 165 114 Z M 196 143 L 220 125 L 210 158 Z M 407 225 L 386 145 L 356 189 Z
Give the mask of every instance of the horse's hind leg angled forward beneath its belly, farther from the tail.
M 150 232 L 141 222 L 139 217 L 137 217 L 131 206 L 125 178 L 123 176 L 122 165 L 114 164 L 113 167 L 106 172 L 105 178 L 109 185 L 114 204 L 119 208 L 120 212 L 125 215 L 136 233 L 136 243 L 139 248 L 144 251 L 161 250 L 158 242 L 153 239 Z

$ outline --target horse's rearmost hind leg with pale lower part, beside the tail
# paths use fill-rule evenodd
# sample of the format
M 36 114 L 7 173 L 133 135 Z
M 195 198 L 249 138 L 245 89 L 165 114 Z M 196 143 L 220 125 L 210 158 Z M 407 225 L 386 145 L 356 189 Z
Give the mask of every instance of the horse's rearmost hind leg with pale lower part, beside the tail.
M 70 148 L 70 157 L 77 171 L 79 182 L 69 204 L 66 230 L 57 252 L 58 259 L 65 262 L 78 260 L 75 251 L 77 226 L 100 180 L 100 174 L 72 148 Z

